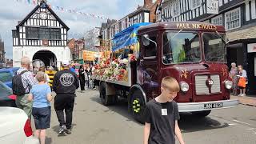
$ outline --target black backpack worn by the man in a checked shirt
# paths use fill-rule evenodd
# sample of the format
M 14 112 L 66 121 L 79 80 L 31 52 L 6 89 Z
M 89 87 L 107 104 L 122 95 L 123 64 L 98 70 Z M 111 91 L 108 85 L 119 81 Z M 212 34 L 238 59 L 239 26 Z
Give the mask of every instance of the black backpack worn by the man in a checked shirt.
M 26 92 L 26 88 L 23 86 L 22 83 L 22 74 L 26 73 L 27 70 L 22 71 L 21 74 L 14 75 L 12 82 L 13 82 L 13 93 L 15 95 L 24 95 Z

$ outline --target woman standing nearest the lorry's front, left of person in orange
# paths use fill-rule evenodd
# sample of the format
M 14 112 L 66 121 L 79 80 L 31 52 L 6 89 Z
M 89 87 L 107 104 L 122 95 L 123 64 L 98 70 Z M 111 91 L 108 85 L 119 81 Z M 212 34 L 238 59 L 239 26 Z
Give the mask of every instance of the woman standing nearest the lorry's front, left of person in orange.
M 233 95 L 238 95 L 238 67 L 234 62 L 231 63 L 231 70 L 230 70 L 230 78 L 232 78 L 233 81 Z

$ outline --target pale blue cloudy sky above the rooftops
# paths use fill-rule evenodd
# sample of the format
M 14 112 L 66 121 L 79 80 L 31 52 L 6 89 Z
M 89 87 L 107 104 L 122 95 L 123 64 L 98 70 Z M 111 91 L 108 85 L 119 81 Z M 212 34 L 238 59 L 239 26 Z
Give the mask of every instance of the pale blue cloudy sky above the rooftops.
M 0 35 L 5 42 L 6 58 L 12 58 L 12 34 L 18 21 L 21 21 L 34 9 L 33 0 L 0 0 Z M 99 14 L 111 19 L 120 19 L 136 10 L 138 5 L 143 5 L 143 0 L 48 0 L 51 6 L 63 7 L 67 10 L 77 10 L 87 14 Z M 4 3 L 4 4 L 3 4 Z M 101 26 L 102 20 L 83 16 L 80 14 L 70 14 L 54 10 L 58 17 L 70 27 L 70 37 L 82 36 L 86 30 L 95 26 Z

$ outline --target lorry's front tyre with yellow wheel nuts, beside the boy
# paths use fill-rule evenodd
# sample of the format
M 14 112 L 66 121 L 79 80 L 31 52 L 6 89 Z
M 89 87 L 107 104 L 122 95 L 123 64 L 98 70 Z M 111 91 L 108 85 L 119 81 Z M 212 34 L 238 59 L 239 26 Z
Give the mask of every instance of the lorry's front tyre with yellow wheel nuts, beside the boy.
M 134 90 L 130 94 L 130 112 L 134 119 L 140 123 L 144 123 L 143 112 L 146 107 L 146 102 L 140 90 Z

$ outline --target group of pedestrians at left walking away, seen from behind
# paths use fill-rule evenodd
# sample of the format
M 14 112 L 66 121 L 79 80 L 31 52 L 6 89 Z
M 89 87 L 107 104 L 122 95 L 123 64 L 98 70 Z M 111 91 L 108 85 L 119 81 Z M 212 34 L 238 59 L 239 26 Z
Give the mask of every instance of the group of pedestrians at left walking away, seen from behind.
M 58 134 L 71 134 L 72 115 L 74 108 L 75 90 L 79 87 L 77 75 L 70 70 L 68 61 L 62 62 L 62 70 L 58 72 L 54 67 L 39 67 L 30 72 L 30 58 L 22 57 L 22 67 L 17 71 L 14 83 L 22 82 L 22 86 L 14 85 L 16 105 L 24 110 L 31 119 L 34 118 L 35 133 L 41 144 L 46 141 L 46 129 L 50 128 L 50 102 L 52 90 L 54 97 L 54 110 L 58 117 Z M 20 81 L 19 81 L 20 78 Z M 20 84 L 20 83 L 19 83 Z

